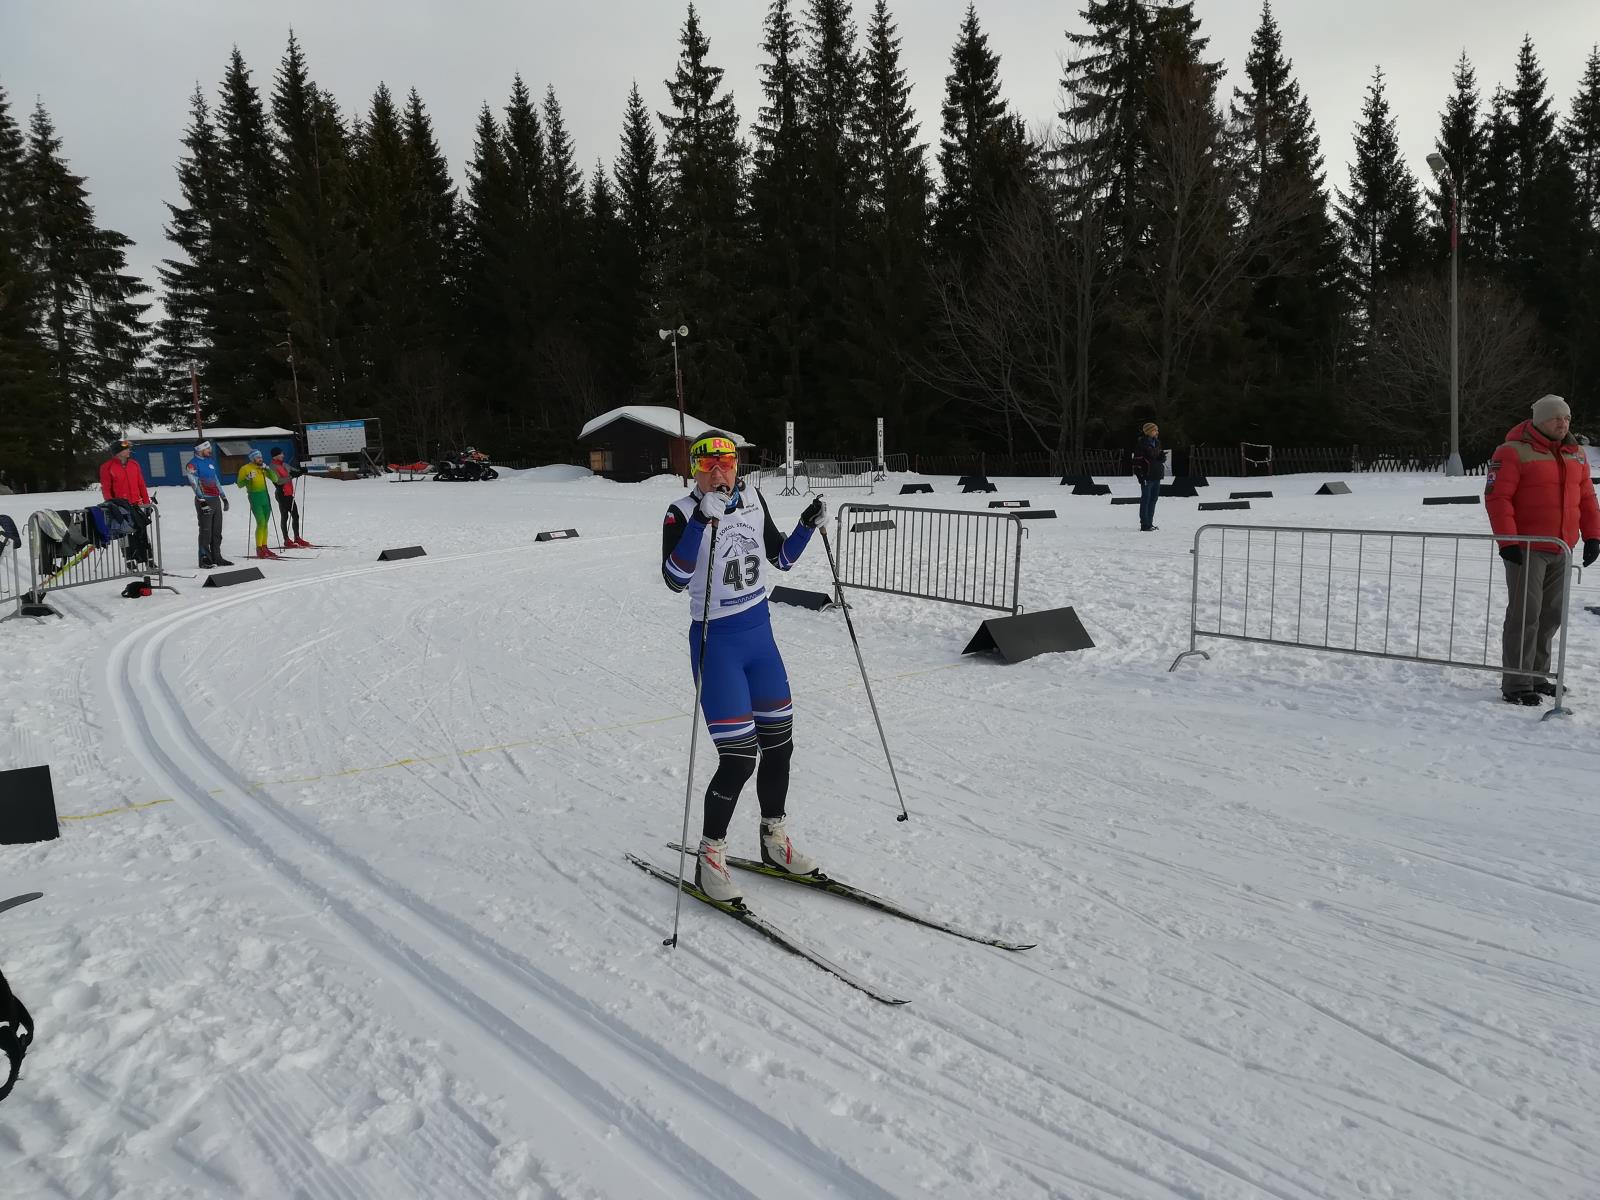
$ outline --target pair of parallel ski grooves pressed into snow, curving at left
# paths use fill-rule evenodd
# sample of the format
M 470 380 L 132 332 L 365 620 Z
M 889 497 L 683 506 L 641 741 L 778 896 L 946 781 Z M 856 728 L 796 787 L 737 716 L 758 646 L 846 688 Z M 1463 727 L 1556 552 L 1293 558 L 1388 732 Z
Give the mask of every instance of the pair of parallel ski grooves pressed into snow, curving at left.
M 446 563 L 451 558 L 474 558 L 482 557 L 482 554 L 438 557 L 429 560 L 429 563 Z M 382 568 L 358 568 L 344 574 L 368 574 L 378 570 Z M 886 1200 L 888 1192 L 853 1168 L 832 1158 L 803 1134 L 779 1125 L 765 1114 L 749 1110 L 723 1085 L 701 1075 L 685 1062 L 664 1056 L 659 1045 L 643 1040 L 637 1032 L 627 1029 L 614 1018 L 597 1011 L 589 1002 L 571 994 L 554 978 L 533 966 L 533 963 L 485 939 L 478 931 L 466 926 L 458 918 L 434 909 L 434 906 L 421 898 L 379 875 L 370 864 L 354 859 L 347 851 L 318 830 L 306 826 L 270 797 L 254 792 L 248 782 L 238 779 L 232 768 L 205 744 L 205 739 L 184 714 L 181 702 L 173 694 L 171 685 L 160 670 L 160 650 L 166 638 L 190 621 L 210 616 L 224 605 L 248 603 L 266 595 L 275 595 L 282 590 L 330 578 L 333 576 L 288 581 L 278 587 L 222 600 L 202 610 L 174 613 L 142 626 L 114 648 L 109 666 L 114 701 L 117 702 L 123 725 L 133 734 L 133 744 L 142 744 L 152 776 L 166 778 L 176 790 L 187 792 L 197 808 L 210 816 L 226 834 L 232 835 L 240 848 L 246 850 L 267 870 L 282 877 L 291 890 L 307 896 L 315 906 L 323 907 L 328 915 L 339 920 L 347 933 L 370 950 L 371 957 L 387 960 L 426 992 L 442 1000 L 442 1011 L 451 1014 L 459 1026 L 472 1026 L 475 1035 L 486 1035 L 504 1050 L 515 1053 L 533 1066 L 541 1077 L 550 1082 L 560 1080 L 565 1094 L 576 1099 L 592 1118 L 597 1118 L 602 1125 L 614 1125 L 627 1133 L 637 1152 L 654 1155 L 642 1158 L 634 1165 L 645 1179 L 658 1178 L 666 1166 L 677 1174 L 688 1192 L 712 1186 L 714 1195 L 750 1195 L 734 1178 L 725 1174 L 714 1162 L 688 1146 L 682 1136 L 662 1123 L 662 1118 L 651 1117 L 632 1102 L 608 1093 L 600 1080 L 563 1059 L 558 1051 L 522 1029 L 518 1022 L 504 1016 L 504 1013 L 475 990 L 451 979 L 448 971 L 430 963 L 427 955 L 419 952 L 414 944 L 363 917 L 352 899 L 336 894 L 333 890 L 306 875 L 299 866 L 274 848 L 272 843 L 278 840 L 278 835 L 266 832 L 261 827 L 258 813 L 272 818 L 278 827 L 299 843 L 299 850 L 318 854 L 320 866 L 336 869 L 347 882 L 354 882 L 358 891 L 374 891 L 384 901 L 403 909 L 405 915 L 411 918 L 410 925 L 424 926 L 424 933 L 435 942 L 443 942 L 458 957 L 472 960 L 480 968 L 480 973 L 499 976 L 501 982 L 510 982 L 522 992 L 522 998 L 554 1010 L 566 1024 L 576 1026 L 582 1032 L 582 1040 L 598 1043 L 602 1056 L 610 1051 L 613 1056 L 619 1054 L 629 1059 L 634 1066 L 650 1067 L 653 1082 L 662 1091 L 675 1094 L 677 1099 L 691 1101 L 701 1110 L 701 1120 L 707 1120 L 709 1114 L 712 1126 L 720 1123 L 726 1130 L 731 1125 L 739 1130 L 747 1142 L 754 1139 L 747 1146 L 754 1160 L 760 1162 L 766 1157 L 765 1152 L 768 1150 L 782 1154 L 795 1168 L 800 1168 L 800 1173 L 813 1176 L 813 1186 L 800 1194 L 818 1195 L 827 1190 L 832 1182 L 845 1179 L 851 1189 L 851 1197 L 883 1197 Z M 138 654 L 134 653 L 136 650 Z M 139 704 L 141 688 L 138 685 L 141 682 L 154 685 L 154 694 L 149 696 L 144 706 Z M 163 725 L 162 733 L 166 734 L 165 739 L 157 738 L 150 725 L 152 709 Z M 213 798 L 210 789 L 186 771 L 165 749 L 166 746 L 182 747 L 179 752 L 192 757 L 197 766 L 210 768 L 210 774 L 226 784 L 224 792 L 229 795 Z M 232 803 L 227 803 L 229 798 Z M 256 811 L 253 813 L 251 810 Z M 464 1013 L 466 1019 L 458 1016 L 456 1010 Z M 586 1046 L 586 1050 L 592 1053 L 592 1046 Z M 616 1072 L 613 1070 L 613 1074 Z M 626 1075 L 627 1072 L 622 1074 Z M 717 1120 L 718 1117 L 722 1122 Z M 682 1112 L 674 1112 L 672 1123 L 682 1123 Z M 610 1152 L 614 1154 L 614 1147 Z

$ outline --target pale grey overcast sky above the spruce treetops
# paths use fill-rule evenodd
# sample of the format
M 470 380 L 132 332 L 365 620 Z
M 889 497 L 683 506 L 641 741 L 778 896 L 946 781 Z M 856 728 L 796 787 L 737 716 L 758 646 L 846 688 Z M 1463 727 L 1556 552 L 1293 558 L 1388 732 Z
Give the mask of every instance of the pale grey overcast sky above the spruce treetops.
M 797 0 L 803 10 L 805 2 Z M 726 70 L 741 120 L 758 106 L 765 0 L 701 0 L 712 61 Z M 1006 101 L 1029 126 L 1056 110 L 1066 30 L 1078 0 L 979 0 L 1000 54 Z M 922 138 L 938 146 L 950 46 L 966 0 L 894 0 L 901 53 Z M 586 173 L 611 165 L 634 80 L 653 110 L 667 107 L 686 3 L 675 0 L 0 0 L 0 86 L 26 126 L 43 101 L 72 168 L 88 179 L 96 218 L 134 238 L 130 266 L 149 283 L 170 253 L 163 200 L 178 200 L 174 166 L 195 83 L 214 96 L 229 51 L 240 48 L 262 94 L 290 27 L 312 78 L 346 112 L 363 112 L 379 82 L 416 86 L 434 117 L 456 184 L 472 150 L 478 107 L 499 112 L 514 72 L 539 96 L 555 85 Z M 870 0 L 856 0 L 864 30 Z M 1229 86 L 1250 50 L 1261 0 L 1198 0 L 1211 56 Z M 1310 99 L 1328 178 L 1346 186 L 1350 133 L 1381 66 L 1400 139 L 1419 178 L 1456 56 L 1466 50 L 1488 101 L 1510 83 L 1517 46 L 1531 35 L 1560 114 L 1570 112 L 1584 59 L 1600 42 L 1600 0 L 1278 0 L 1285 50 Z

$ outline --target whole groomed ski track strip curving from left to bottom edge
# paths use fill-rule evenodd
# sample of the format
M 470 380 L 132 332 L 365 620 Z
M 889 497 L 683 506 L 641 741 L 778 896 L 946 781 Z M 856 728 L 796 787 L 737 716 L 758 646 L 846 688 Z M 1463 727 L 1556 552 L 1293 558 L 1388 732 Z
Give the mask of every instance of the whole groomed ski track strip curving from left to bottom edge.
M 445 555 L 426 565 L 494 554 Z M 590 1165 L 586 1184 L 597 1194 L 888 1197 L 821 1147 L 742 1104 L 691 1062 L 637 1037 L 549 973 L 347 853 L 267 790 L 251 787 L 195 731 L 162 672 L 162 653 L 184 626 L 219 608 L 390 570 L 403 568 L 386 563 L 272 584 L 211 608 L 160 618 L 117 643 L 107 683 L 150 774 L 192 800 L 200 819 L 307 910 L 338 922 L 350 947 L 422 1000 L 440 1029 L 475 1043 L 474 1059 L 509 1056 L 512 1062 L 493 1083 L 538 1106 L 544 1120 L 566 1126 L 568 1136 L 587 1146 L 574 1170 Z M 613 1136 L 619 1131 L 621 1138 Z M 291 1141 L 285 1131 L 285 1160 L 296 1158 Z M 704 1152 L 710 1147 L 715 1155 Z M 739 1176 L 762 1184 L 750 1190 Z

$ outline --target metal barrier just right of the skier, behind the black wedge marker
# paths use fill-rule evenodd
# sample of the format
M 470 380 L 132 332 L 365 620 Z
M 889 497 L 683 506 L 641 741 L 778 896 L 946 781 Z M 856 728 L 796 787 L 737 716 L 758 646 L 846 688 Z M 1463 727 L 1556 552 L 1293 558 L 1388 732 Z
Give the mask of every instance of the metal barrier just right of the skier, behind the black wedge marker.
M 840 587 L 1013 616 L 1022 608 L 1024 528 L 1014 514 L 848 501 L 837 523 Z

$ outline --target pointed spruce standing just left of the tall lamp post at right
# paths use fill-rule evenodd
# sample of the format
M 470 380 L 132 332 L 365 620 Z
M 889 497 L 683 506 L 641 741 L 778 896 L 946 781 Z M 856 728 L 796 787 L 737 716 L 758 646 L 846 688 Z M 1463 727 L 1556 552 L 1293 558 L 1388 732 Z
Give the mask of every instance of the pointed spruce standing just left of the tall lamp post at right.
M 1355 126 L 1350 190 L 1339 192 L 1346 272 L 1357 309 L 1371 330 L 1384 291 L 1424 258 L 1422 210 L 1416 176 L 1400 157 L 1382 70 L 1373 72 Z

